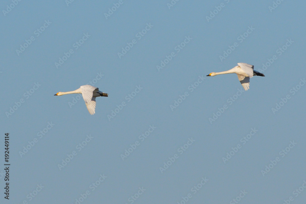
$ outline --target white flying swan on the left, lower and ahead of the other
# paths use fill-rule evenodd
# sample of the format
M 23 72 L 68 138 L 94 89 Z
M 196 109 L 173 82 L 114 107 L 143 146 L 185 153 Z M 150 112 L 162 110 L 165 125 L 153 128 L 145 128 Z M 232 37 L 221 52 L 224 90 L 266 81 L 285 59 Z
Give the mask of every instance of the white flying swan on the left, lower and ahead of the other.
M 81 86 L 79 89 L 76 89 L 75 91 L 58 92 L 57 94 L 54 94 L 54 96 L 62 96 L 64 94 L 69 94 L 69 93 L 81 93 L 82 94 L 90 115 L 95 114 L 95 98 L 98 96 L 106 96 L 106 97 L 108 96 L 107 93 L 103 93 L 99 91 L 99 88 L 91 86 L 91 85 Z

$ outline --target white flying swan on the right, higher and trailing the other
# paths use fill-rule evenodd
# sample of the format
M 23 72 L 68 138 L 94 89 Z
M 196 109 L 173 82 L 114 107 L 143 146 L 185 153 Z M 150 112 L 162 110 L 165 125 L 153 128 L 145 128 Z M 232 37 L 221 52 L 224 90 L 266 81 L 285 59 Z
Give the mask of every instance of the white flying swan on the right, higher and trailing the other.
M 235 66 L 233 69 L 230 69 L 228 71 L 224 71 L 224 72 L 212 72 L 208 75 L 206 75 L 207 77 L 213 77 L 216 76 L 218 74 L 230 74 L 230 73 L 235 73 L 238 75 L 238 79 L 241 83 L 241 85 L 243 86 L 244 90 L 248 90 L 250 89 L 250 78 L 252 78 L 253 76 L 261 76 L 264 77 L 265 75 L 255 71 L 254 70 L 254 66 L 247 64 L 247 63 L 238 63 L 238 66 Z

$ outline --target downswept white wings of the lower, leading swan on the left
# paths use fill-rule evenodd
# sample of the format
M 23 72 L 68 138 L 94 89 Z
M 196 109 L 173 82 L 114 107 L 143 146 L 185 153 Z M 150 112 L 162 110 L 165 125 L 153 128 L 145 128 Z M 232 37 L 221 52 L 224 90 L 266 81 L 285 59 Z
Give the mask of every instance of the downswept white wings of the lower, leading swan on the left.
M 99 89 L 91 85 L 84 85 L 80 87 L 82 90 L 82 96 L 85 101 L 86 107 L 90 115 L 95 114 L 95 97 L 93 96 L 94 92 L 97 92 Z

